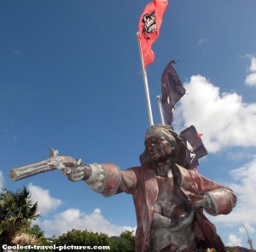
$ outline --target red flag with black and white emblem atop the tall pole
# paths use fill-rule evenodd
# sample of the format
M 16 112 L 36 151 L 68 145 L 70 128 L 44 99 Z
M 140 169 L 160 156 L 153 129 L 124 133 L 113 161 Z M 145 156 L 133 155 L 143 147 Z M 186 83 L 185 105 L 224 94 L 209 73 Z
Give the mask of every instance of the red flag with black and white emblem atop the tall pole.
M 145 68 L 154 61 L 154 52 L 151 47 L 159 36 L 163 14 L 167 5 L 167 0 L 154 0 L 153 3 L 148 3 L 139 20 L 139 38 Z

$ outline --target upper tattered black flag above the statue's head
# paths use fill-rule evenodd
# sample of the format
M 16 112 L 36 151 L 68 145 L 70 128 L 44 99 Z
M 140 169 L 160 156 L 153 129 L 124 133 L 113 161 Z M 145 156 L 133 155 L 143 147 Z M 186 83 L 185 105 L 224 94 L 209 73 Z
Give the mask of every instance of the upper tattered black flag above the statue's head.
M 172 66 L 173 63 L 175 63 L 175 60 L 171 60 L 166 66 L 161 77 L 162 106 L 164 108 L 167 125 L 172 125 L 172 109 L 174 109 L 176 102 L 186 93 L 186 89 L 183 88 L 183 84 Z

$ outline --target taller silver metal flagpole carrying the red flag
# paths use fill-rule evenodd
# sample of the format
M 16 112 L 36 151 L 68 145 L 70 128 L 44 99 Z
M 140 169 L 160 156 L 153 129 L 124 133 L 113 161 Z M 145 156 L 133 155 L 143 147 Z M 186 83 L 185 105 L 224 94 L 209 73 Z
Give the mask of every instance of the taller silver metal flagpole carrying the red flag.
M 137 43 L 138 43 L 138 48 L 139 48 L 139 53 L 140 53 L 140 58 L 141 58 L 141 63 L 142 63 L 144 89 L 145 89 L 147 106 L 148 106 L 148 120 L 149 120 L 149 125 L 153 126 L 154 122 L 153 122 L 153 115 L 152 115 L 150 96 L 149 96 L 149 90 L 148 90 L 148 77 L 147 77 L 147 72 L 146 72 L 146 69 L 145 69 L 144 63 L 143 63 L 143 53 L 142 53 L 142 47 L 141 47 L 139 32 L 137 32 Z

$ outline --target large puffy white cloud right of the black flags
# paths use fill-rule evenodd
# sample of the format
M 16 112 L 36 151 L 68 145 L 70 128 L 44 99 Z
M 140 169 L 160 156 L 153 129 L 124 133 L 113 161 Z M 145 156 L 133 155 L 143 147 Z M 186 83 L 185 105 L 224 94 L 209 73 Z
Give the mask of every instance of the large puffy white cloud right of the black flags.
M 185 127 L 193 124 L 203 133 L 208 152 L 225 146 L 256 146 L 256 103 L 244 103 L 235 92 L 220 94 L 218 87 L 200 75 L 192 76 L 184 87 L 189 94 L 180 100 L 175 117 L 182 117 Z

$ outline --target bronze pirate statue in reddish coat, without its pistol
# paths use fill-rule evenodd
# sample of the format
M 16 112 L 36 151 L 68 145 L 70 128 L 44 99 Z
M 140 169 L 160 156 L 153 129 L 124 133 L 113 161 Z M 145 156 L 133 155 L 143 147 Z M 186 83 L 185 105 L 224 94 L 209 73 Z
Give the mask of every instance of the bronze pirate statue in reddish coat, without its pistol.
M 169 125 L 154 125 L 144 140 L 141 166 L 120 170 L 113 163 L 77 163 L 67 174 L 84 180 L 105 197 L 132 195 L 136 215 L 136 251 L 225 251 L 210 215 L 228 215 L 236 195 L 227 186 L 189 169 L 183 140 Z

